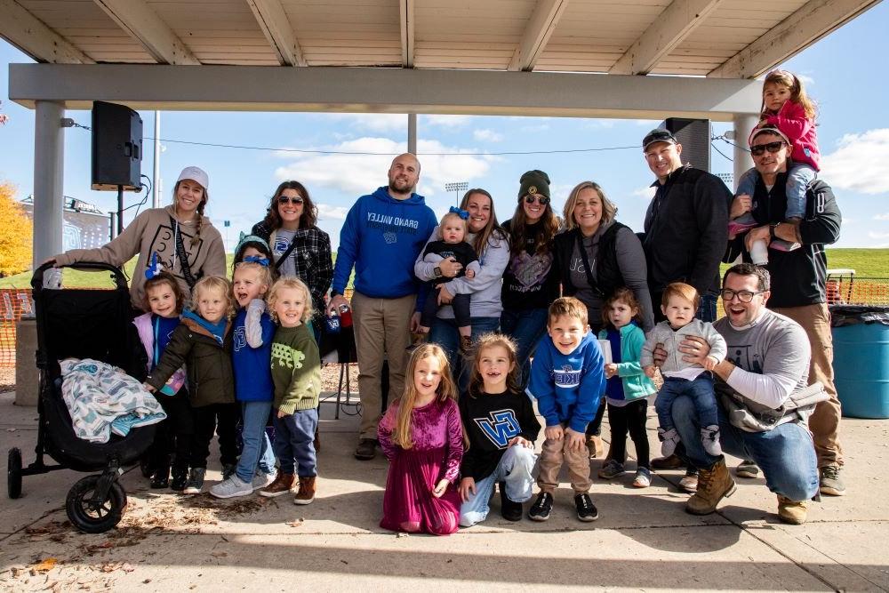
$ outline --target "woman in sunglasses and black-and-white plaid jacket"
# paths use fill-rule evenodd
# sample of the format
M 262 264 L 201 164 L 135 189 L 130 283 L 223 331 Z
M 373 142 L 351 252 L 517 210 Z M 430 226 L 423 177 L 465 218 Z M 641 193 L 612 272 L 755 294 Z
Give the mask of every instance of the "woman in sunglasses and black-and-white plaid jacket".
M 318 210 L 299 181 L 284 181 L 275 190 L 265 220 L 253 225 L 251 235 L 268 242 L 274 267 L 281 276 L 297 276 L 312 293 L 316 317 L 324 315 L 324 293 L 331 287 L 331 237 L 316 227 Z M 313 324 L 317 330 L 320 323 Z

